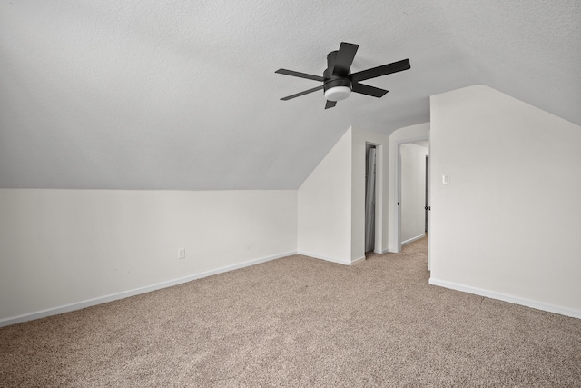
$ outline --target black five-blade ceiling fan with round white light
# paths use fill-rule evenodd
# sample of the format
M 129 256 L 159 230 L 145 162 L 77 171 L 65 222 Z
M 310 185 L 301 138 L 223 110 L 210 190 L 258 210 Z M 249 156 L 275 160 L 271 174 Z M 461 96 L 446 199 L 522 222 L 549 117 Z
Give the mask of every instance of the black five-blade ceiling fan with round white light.
M 388 91 L 379 89 L 379 87 L 360 84 L 359 81 L 365 81 L 381 75 L 390 75 L 391 73 L 401 72 L 410 68 L 409 59 L 403 59 L 392 64 L 381 65 L 357 73 L 351 73 L 350 67 L 358 48 L 359 45 L 341 42 L 339 50 L 331 51 L 327 55 L 327 70 L 323 72 L 323 76 L 308 75 L 306 73 L 295 72 L 287 69 L 279 69 L 274 72 L 281 75 L 292 75 L 323 83 L 323 85 L 313 87 L 312 89 L 305 90 L 296 95 L 283 97 L 281 100 L 291 100 L 291 98 L 299 97 L 300 95 L 308 95 L 321 89 L 325 92 L 325 98 L 327 99 L 325 109 L 332 108 L 338 101 L 349 97 L 351 92 L 380 98 L 388 93 Z

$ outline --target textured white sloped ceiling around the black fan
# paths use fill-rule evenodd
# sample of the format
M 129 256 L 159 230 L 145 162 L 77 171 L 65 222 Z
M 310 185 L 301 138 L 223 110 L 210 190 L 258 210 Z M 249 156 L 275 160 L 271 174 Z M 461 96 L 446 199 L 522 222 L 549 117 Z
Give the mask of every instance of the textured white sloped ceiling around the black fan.
M 351 125 L 429 121 L 429 95 L 489 85 L 581 124 L 581 3 L 506 0 L 0 2 L 0 187 L 294 189 Z M 353 72 L 409 58 L 324 110 Z

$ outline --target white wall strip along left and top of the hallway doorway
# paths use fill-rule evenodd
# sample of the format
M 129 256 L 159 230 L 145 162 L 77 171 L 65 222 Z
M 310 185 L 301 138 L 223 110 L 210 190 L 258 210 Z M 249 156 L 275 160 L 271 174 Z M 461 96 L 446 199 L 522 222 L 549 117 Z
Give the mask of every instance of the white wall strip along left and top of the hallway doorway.
M 389 252 L 399 252 L 398 234 L 398 199 L 397 190 L 398 179 L 398 147 L 400 144 L 429 139 L 429 123 L 410 125 L 399 128 L 389 135 Z

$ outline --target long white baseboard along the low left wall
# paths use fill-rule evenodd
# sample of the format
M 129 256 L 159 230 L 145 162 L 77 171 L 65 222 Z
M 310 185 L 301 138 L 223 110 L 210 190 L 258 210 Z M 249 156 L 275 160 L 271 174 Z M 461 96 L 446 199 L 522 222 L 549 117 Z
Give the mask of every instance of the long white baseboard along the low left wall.
M 251 265 L 270 262 L 271 260 L 280 259 L 281 257 L 291 256 L 292 254 L 297 254 L 297 251 L 287 252 L 285 254 L 274 254 L 271 256 L 266 256 L 266 257 L 261 257 L 258 259 L 249 260 L 249 261 L 242 262 L 239 264 L 226 265 L 224 267 L 217 268 L 217 269 L 211 270 L 211 271 L 205 271 L 205 272 L 198 273 L 198 274 L 191 274 L 191 275 L 184 276 L 184 277 L 181 277 L 178 279 L 169 280 L 167 282 L 146 285 L 146 286 L 139 287 L 139 288 L 133 288 L 132 290 L 123 291 L 121 293 L 110 293 L 108 295 L 99 296 L 99 297 L 92 298 L 92 299 L 87 299 L 87 300 L 81 301 L 81 302 L 64 304 L 62 306 L 58 306 L 58 307 L 54 307 L 54 308 L 50 308 L 50 309 L 45 309 L 45 310 L 41 310 L 41 311 L 34 312 L 34 313 L 25 313 L 22 315 L 4 318 L 4 319 L 0 319 L 0 327 L 9 326 L 9 325 L 15 324 L 15 323 L 23 323 L 26 321 L 32 321 L 34 319 L 44 318 L 44 317 L 50 316 L 50 315 L 57 315 L 59 313 L 69 313 L 69 312 L 72 312 L 74 310 L 81 310 L 81 309 L 84 309 L 86 307 L 94 306 L 96 304 L 108 303 L 108 302 L 116 301 L 118 299 L 128 298 L 130 296 L 138 295 L 140 293 L 150 293 L 152 291 L 160 290 L 162 288 L 172 287 L 173 285 L 192 282 L 192 280 L 201 279 L 202 277 L 212 276 L 213 274 L 222 274 L 225 272 L 237 270 L 237 269 L 248 267 Z

